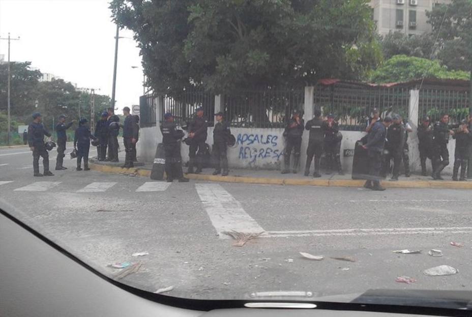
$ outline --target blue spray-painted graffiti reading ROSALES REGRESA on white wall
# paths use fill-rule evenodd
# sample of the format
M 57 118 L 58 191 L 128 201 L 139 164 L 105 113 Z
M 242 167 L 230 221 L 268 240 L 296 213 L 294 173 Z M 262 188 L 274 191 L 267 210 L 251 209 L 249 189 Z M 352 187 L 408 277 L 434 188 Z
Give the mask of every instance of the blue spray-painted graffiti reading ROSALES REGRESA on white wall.
M 283 155 L 283 151 L 274 149 L 278 145 L 278 138 L 277 135 L 272 134 L 238 134 L 236 142 L 241 146 L 239 159 L 249 159 L 249 164 L 254 164 L 256 160 L 263 159 L 276 159 L 278 161 Z

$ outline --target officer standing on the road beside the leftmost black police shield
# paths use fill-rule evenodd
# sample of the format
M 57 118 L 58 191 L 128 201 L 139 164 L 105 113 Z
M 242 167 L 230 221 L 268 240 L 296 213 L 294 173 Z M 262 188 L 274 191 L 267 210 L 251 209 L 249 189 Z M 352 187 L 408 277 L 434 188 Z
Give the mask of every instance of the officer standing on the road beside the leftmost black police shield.
M 182 156 L 179 140 L 184 137 L 184 131 L 177 130 L 172 113 L 164 114 L 164 123 L 161 125 L 162 144 L 165 155 L 165 174 L 167 182 L 179 179 L 179 182 L 188 182 L 182 171 Z

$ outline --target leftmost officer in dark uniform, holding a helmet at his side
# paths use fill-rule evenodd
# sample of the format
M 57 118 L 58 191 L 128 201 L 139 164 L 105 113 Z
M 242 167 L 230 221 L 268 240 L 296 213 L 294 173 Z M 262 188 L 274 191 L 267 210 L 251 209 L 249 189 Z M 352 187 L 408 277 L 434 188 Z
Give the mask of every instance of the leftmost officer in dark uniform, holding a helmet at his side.
M 41 123 L 42 118 L 39 112 L 33 114 L 33 122 L 28 126 L 28 146 L 33 151 L 33 170 L 35 176 L 54 176 L 49 170 L 49 153 L 44 144 L 44 136 L 51 134 Z M 43 158 L 43 174 L 39 172 L 39 157 Z

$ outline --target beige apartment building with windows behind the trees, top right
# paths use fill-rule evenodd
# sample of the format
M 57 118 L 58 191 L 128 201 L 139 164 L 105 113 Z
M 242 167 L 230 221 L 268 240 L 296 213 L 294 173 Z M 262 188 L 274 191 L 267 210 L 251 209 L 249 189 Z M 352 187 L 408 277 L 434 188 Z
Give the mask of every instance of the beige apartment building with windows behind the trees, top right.
M 372 0 L 370 6 L 377 32 L 381 35 L 400 31 L 406 35 L 431 32 L 426 11 L 451 0 Z

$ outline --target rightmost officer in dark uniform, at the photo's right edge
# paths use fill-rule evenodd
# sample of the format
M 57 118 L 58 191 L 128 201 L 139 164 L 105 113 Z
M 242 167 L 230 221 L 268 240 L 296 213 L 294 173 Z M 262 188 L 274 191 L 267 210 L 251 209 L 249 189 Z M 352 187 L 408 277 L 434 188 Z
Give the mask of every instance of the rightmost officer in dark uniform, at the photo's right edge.
M 454 169 L 452 180 L 465 181 L 465 171 L 467 169 L 468 148 L 472 145 L 472 131 L 467 127 L 467 120 L 462 120 L 459 129 L 453 135 L 456 139 L 456 149 L 454 150 Z M 457 174 L 460 167 L 460 178 L 457 179 Z

